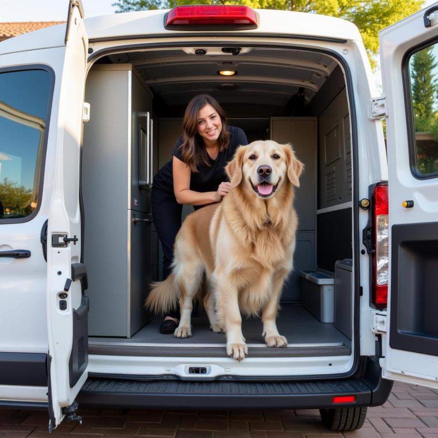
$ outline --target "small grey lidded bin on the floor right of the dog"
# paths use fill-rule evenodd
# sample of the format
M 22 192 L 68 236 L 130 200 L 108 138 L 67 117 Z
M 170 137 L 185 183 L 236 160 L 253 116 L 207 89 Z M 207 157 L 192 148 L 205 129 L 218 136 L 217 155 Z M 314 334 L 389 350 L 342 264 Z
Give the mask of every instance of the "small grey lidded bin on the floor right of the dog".
M 323 271 L 300 271 L 303 306 L 321 322 L 334 321 L 334 274 Z

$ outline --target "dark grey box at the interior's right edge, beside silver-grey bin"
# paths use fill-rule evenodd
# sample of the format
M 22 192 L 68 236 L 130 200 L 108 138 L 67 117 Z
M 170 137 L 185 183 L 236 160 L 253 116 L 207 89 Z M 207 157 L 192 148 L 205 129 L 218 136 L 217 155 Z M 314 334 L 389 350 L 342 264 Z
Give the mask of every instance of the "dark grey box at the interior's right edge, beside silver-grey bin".
M 351 321 L 353 314 L 351 272 L 352 259 L 338 260 L 335 263 L 335 307 L 334 325 L 336 329 L 351 339 Z

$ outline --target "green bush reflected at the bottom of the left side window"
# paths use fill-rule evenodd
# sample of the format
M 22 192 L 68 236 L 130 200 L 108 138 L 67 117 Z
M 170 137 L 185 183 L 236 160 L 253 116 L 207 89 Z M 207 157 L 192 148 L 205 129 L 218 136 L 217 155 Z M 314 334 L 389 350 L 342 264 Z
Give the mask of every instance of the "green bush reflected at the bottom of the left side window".
M 17 183 L 4 178 L 0 183 L 0 202 L 4 211 L 3 218 L 23 218 L 30 215 L 34 208 L 31 206 L 32 190 L 19 186 Z

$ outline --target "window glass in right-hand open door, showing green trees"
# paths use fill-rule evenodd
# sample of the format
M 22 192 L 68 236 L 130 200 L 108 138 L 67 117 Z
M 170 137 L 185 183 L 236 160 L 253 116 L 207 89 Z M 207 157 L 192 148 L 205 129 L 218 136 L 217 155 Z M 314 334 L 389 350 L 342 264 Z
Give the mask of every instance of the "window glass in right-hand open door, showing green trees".
M 417 170 L 428 175 L 438 172 L 438 44 L 411 56 L 409 74 Z

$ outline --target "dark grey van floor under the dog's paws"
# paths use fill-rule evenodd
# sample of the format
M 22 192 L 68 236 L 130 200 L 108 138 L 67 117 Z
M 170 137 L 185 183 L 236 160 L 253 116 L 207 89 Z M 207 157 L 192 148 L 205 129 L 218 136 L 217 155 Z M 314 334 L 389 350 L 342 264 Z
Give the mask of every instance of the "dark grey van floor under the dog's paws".
M 318 321 L 300 304 L 282 304 L 277 328 L 288 340 L 286 348 L 269 348 L 264 343 L 260 318 L 242 321 L 249 357 L 345 356 L 351 354 L 351 341 L 332 323 Z M 205 313 L 192 317 L 192 336 L 177 339 L 161 334 L 162 317 L 153 317 L 131 338 L 89 337 L 90 354 L 123 356 L 223 357 L 225 335 L 209 328 Z

